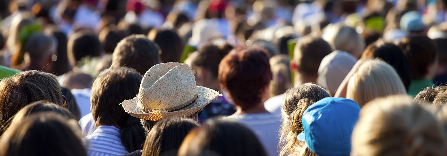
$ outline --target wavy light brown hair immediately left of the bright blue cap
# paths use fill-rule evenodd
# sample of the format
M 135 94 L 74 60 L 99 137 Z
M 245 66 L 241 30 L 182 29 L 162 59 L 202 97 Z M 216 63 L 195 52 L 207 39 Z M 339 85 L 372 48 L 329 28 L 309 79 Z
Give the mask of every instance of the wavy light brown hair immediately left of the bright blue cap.
M 312 83 L 304 83 L 286 91 L 281 108 L 283 126 L 280 140 L 283 146 L 280 156 L 295 153 L 304 145 L 304 142 L 296 139 L 304 131 L 301 116 L 310 105 L 326 97 L 330 97 L 329 93 Z

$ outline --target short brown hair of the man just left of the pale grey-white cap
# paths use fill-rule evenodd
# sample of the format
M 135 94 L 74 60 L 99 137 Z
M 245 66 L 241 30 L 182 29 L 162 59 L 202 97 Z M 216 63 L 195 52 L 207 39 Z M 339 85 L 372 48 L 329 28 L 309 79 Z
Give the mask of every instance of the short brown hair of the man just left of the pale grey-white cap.
M 293 51 L 292 62 L 295 62 L 299 72 L 315 76 L 318 75 L 321 60 L 332 52 L 328 42 L 312 36 L 300 38 Z

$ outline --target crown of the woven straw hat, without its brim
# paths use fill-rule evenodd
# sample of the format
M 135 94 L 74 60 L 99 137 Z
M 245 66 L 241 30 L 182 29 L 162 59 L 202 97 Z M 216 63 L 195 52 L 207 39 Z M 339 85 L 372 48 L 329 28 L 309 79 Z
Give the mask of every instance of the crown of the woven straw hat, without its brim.
M 194 75 L 187 64 L 161 63 L 144 74 L 138 99 L 147 109 L 169 109 L 197 94 Z

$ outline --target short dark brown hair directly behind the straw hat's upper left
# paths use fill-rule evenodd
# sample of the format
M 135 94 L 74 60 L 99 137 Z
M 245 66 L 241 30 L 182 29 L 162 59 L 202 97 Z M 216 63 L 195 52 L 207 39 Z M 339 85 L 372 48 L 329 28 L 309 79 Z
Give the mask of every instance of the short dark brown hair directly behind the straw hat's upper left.
M 160 48 L 145 35 L 131 35 L 122 39 L 112 55 L 112 66 L 125 66 L 144 75 L 152 66 L 160 63 Z

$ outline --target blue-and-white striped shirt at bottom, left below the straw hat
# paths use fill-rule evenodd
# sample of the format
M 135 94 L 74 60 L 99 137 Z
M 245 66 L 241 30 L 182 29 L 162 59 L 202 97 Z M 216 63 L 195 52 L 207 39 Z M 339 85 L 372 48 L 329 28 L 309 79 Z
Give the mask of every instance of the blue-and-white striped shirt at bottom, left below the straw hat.
M 121 143 L 119 129 L 114 126 L 99 126 L 84 138 L 88 156 L 121 156 L 127 154 Z

